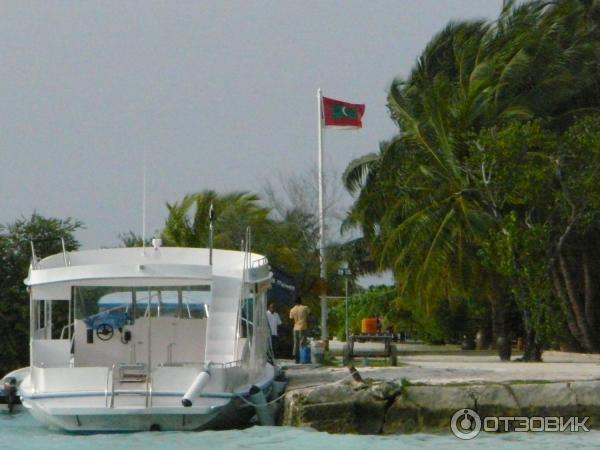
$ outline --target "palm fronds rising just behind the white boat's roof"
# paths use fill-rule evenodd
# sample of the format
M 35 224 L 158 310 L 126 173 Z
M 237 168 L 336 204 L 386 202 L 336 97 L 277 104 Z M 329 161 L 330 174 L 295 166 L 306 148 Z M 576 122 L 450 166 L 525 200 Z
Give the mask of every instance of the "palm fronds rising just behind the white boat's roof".
M 314 215 L 299 209 L 280 211 L 276 220 L 255 194 L 203 191 L 186 195 L 180 202 L 167 204 L 169 216 L 162 232 L 165 244 L 208 246 L 211 205 L 216 216 L 216 248 L 239 250 L 250 227 L 252 251 L 266 255 L 271 265 L 293 276 L 300 295 L 314 293 L 317 297 L 318 224 Z

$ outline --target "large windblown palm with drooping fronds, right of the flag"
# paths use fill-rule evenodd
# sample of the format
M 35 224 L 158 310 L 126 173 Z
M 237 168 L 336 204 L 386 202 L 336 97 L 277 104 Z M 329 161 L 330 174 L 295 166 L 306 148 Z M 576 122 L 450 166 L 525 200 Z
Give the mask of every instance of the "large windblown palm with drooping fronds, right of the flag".
M 489 168 L 470 164 L 473 142 L 482 129 L 532 117 L 561 129 L 597 107 L 597 8 L 508 2 L 494 24 L 448 25 L 408 79 L 392 83 L 388 107 L 401 134 L 349 165 L 345 184 L 360 193 L 347 223 L 360 226 L 404 292 L 427 303 L 488 286 L 502 309 L 496 291 L 510 295 L 510 280 L 478 252 L 513 205 L 490 197 Z

